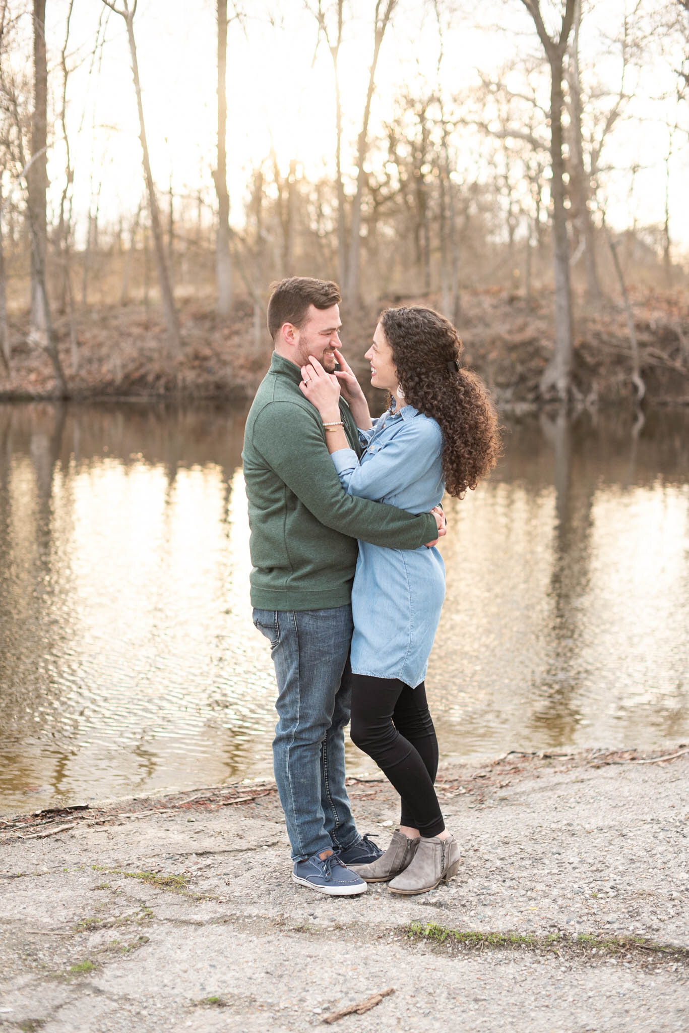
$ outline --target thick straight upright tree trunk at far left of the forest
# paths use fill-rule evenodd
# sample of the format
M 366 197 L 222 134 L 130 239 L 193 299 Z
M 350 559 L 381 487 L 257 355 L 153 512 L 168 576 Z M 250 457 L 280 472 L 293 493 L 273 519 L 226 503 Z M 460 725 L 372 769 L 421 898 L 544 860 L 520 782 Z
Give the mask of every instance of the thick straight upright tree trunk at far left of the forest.
M 31 237 L 31 335 L 46 342 L 48 316 L 44 291 L 38 282 L 36 262 L 45 276 L 48 231 L 45 193 L 48 191 L 48 64 L 45 59 L 45 0 L 33 3 L 34 109 L 31 121 L 32 162 L 27 175 Z M 43 283 L 44 286 L 44 283 Z

